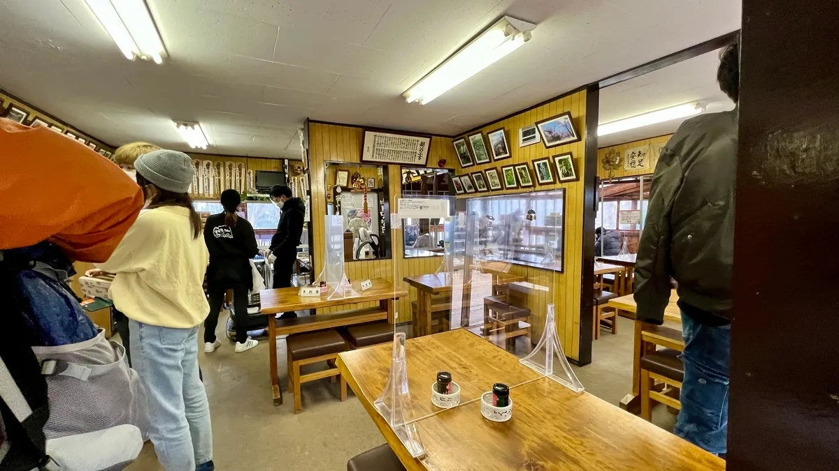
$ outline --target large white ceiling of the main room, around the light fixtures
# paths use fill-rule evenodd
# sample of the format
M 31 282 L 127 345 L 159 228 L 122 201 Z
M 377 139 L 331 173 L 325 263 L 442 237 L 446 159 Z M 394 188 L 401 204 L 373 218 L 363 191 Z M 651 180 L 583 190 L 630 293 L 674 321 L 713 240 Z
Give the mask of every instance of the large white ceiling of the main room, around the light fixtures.
M 729 0 L 147 0 L 164 65 L 84 0 L 0 0 L 0 88 L 102 140 L 299 158 L 306 117 L 453 135 L 739 28 Z M 503 14 L 533 39 L 428 105 L 405 90 Z

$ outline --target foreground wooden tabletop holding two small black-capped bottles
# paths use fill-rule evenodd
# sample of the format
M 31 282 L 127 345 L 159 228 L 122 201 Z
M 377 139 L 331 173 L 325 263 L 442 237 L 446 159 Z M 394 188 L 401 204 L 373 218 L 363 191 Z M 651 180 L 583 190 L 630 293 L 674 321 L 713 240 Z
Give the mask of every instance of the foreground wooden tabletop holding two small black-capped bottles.
M 496 351 L 488 351 L 487 346 Z M 343 352 L 336 363 L 410 470 L 725 469 L 721 458 L 591 394 L 576 394 L 540 377 L 514 355 L 465 329 L 407 342 L 413 422 L 426 453 L 425 458 L 412 458 L 373 406 L 387 380 L 390 352 L 391 345 L 377 345 Z M 453 374 L 468 395 L 460 406 L 437 409 L 430 403 L 435 373 L 455 368 L 471 371 L 469 376 Z M 484 419 L 476 396 L 488 391 L 499 372 L 508 378 L 513 398 L 513 418 L 504 423 Z

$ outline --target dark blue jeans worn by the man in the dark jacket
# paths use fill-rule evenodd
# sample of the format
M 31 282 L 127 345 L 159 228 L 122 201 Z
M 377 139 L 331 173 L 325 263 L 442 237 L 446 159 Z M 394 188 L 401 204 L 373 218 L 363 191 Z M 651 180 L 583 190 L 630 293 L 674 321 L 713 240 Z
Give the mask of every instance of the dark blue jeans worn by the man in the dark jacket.
M 726 453 L 731 325 L 709 327 L 682 313 L 685 365 L 681 411 L 673 432 L 700 448 Z

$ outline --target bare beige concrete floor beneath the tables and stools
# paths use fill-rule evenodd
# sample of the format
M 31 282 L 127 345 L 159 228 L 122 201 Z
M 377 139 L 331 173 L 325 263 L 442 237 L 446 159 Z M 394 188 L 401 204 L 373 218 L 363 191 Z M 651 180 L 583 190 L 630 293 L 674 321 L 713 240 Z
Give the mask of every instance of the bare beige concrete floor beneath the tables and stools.
M 220 325 L 225 325 L 220 322 Z M 632 390 L 632 321 L 620 318 L 618 334 L 602 331 L 592 346 L 592 363 L 574 367 L 586 391 L 612 404 Z M 347 468 L 347 459 L 384 443 L 361 403 L 349 393 L 340 401 L 338 385 L 320 380 L 303 385 L 303 412 L 294 414 L 288 385 L 285 342 L 278 342 L 283 406 L 274 407 L 268 380 L 268 341 L 242 354 L 224 344 L 200 362 L 210 401 L 214 462 L 219 470 L 329 470 Z M 316 366 L 316 365 L 312 365 Z M 672 430 L 675 415 L 664 406 L 654 409 L 653 422 Z M 151 443 L 146 443 L 130 471 L 162 469 Z

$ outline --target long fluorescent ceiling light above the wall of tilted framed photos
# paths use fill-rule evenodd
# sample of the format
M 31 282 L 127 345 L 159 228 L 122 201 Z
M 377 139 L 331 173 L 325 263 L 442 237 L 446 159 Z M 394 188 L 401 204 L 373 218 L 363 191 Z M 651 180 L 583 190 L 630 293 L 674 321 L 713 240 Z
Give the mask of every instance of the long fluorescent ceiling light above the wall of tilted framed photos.
M 402 96 L 409 103 L 419 101 L 420 104 L 425 105 L 505 55 L 519 49 L 530 40 L 531 31 L 534 28 L 536 28 L 534 23 L 520 19 L 510 17 L 499 19 L 429 75 L 425 75 Z

